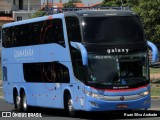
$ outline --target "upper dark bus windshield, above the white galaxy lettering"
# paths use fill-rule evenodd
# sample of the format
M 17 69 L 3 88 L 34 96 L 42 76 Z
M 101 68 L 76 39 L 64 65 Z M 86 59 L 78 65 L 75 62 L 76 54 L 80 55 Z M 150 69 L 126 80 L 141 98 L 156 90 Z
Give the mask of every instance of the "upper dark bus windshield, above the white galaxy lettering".
M 144 41 L 144 32 L 137 16 L 83 17 L 85 43 L 124 45 Z

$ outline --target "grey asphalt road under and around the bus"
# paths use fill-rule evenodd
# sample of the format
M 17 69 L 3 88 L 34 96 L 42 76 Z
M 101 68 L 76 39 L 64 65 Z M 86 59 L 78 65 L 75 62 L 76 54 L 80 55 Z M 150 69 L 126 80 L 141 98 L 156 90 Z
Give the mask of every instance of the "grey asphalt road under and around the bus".
M 13 113 L 18 113 L 16 110 L 14 110 L 14 106 L 11 104 L 6 103 L 2 98 L 0 99 L 0 111 L 12 111 Z M 42 117 L 38 118 L 31 118 L 31 117 L 7 117 L 7 118 L 0 118 L 0 120 L 102 120 L 102 119 L 120 119 L 120 120 L 159 120 L 160 117 L 141 117 L 141 116 L 135 116 L 136 113 L 139 113 L 139 115 L 144 113 L 151 113 L 151 114 L 157 114 L 157 111 L 159 111 L 160 116 L 160 99 L 153 99 L 152 100 L 152 107 L 150 110 L 146 111 L 123 111 L 123 112 L 107 112 L 107 113 L 85 113 L 85 112 L 79 112 L 78 116 L 76 118 L 70 118 L 66 116 L 66 113 L 63 110 L 55 110 L 55 109 L 44 109 L 44 108 L 32 108 L 31 113 L 41 113 Z M 0 114 L 2 114 L 0 112 Z M 12 114 L 13 114 L 12 113 Z M 124 116 L 124 113 L 127 114 L 127 116 Z M 24 113 L 21 113 L 24 114 Z M 25 113 L 28 115 L 28 113 Z M 40 114 L 39 114 L 40 115 Z M 133 115 L 133 116 L 132 116 Z

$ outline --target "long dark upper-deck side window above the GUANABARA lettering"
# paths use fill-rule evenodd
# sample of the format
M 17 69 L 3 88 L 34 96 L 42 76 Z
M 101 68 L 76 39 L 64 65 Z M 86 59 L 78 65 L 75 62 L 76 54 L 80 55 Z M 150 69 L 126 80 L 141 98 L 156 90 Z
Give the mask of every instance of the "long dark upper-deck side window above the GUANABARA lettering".
M 3 47 L 58 43 L 65 47 L 61 19 L 46 20 L 4 28 Z

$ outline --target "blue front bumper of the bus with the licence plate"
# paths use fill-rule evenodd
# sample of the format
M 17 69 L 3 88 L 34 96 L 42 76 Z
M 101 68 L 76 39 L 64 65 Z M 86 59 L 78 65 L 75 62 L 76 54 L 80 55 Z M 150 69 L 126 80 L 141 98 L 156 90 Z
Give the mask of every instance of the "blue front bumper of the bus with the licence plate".
M 86 111 L 137 110 L 150 108 L 150 94 L 135 100 L 107 101 L 86 96 Z

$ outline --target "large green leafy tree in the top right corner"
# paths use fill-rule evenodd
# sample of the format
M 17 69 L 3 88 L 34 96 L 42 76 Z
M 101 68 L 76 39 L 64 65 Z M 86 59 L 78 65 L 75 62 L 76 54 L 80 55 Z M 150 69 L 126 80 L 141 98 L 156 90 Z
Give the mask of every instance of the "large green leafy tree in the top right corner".
M 139 0 L 133 11 L 142 19 L 146 38 L 160 42 L 160 0 Z

